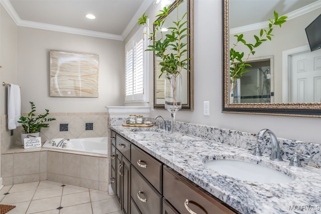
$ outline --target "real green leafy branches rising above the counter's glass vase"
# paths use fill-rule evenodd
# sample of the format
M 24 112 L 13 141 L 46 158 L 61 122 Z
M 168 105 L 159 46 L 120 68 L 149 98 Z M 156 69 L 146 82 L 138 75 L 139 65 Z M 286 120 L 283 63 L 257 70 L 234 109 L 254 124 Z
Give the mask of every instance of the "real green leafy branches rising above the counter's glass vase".
M 176 0 L 174 5 L 177 8 L 177 19 L 174 20 L 169 16 L 172 6 L 165 7 L 155 17 L 159 17 L 154 23 L 154 29 L 152 30 L 147 25 L 147 16 L 145 13 L 141 18 L 138 19 L 138 25 L 146 25 L 150 30 L 148 40 L 152 41 L 152 44 L 148 46 L 146 51 L 153 51 L 155 57 L 161 59 L 159 65 L 161 66 L 161 77 L 165 74 L 180 74 L 183 69 L 189 71 L 189 60 L 190 58 L 184 57 L 188 52 L 188 43 L 184 42 L 188 34 L 187 26 L 187 12 L 180 18 L 178 13 L 178 7 L 183 1 L 179 2 Z M 174 27 L 168 28 L 169 33 L 165 33 L 162 29 L 167 19 L 170 19 L 174 24 Z M 186 20 L 184 20 L 186 19 Z M 156 33 L 161 34 L 161 38 L 156 38 Z

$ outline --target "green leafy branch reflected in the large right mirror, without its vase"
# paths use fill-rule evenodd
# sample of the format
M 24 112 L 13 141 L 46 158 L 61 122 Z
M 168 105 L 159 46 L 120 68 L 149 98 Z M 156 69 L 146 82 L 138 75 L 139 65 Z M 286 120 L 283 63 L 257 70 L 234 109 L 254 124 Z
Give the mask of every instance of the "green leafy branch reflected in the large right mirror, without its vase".
M 278 13 L 274 11 L 274 20 L 269 19 L 269 26 L 268 29 L 261 29 L 260 35 L 254 35 L 255 43 L 250 44 L 247 43 L 244 38 L 243 34 L 240 35 L 234 35 L 234 37 L 237 38 L 237 42 L 234 44 L 233 48 L 230 49 L 230 78 L 238 79 L 242 77 L 243 73 L 248 72 L 246 70 L 246 67 L 252 67 L 251 64 L 247 63 L 248 59 L 251 55 L 255 54 L 255 49 L 259 47 L 263 42 L 271 41 L 272 37 L 274 36 L 272 34 L 273 26 L 279 26 L 281 28 L 282 24 L 286 22 L 287 17 L 282 16 L 278 17 Z M 238 52 L 235 50 L 236 46 L 239 43 L 243 43 L 246 47 L 249 49 L 249 53 L 246 55 L 245 60 L 243 60 L 244 52 Z

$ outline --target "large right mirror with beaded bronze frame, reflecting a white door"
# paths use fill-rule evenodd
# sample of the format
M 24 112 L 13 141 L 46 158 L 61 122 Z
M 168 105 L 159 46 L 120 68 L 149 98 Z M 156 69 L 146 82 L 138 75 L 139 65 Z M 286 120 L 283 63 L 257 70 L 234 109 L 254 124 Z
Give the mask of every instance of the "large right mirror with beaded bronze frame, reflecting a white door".
M 264 20 L 273 18 L 274 10 L 279 16 L 287 16 L 287 22 L 279 29 L 275 27 L 272 41 L 262 45 L 249 59 L 248 62 L 266 62 L 252 66 L 253 71 L 248 73 L 253 75 L 243 79 L 243 86 L 246 85 L 243 91 L 241 83 L 241 101 L 233 103 L 229 89 L 229 54 L 234 35 L 253 37 L 266 26 Z M 305 33 L 305 28 L 320 14 L 319 0 L 222 0 L 222 112 L 321 117 L 321 49 L 311 52 Z M 303 59 L 311 53 L 310 60 Z M 311 79 L 301 75 L 310 70 L 313 70 Z M 250 88 L 255 81 L 256 85 Z M 259 88 L 264 83 L 268 83 L 268 90 L 266 85 Z

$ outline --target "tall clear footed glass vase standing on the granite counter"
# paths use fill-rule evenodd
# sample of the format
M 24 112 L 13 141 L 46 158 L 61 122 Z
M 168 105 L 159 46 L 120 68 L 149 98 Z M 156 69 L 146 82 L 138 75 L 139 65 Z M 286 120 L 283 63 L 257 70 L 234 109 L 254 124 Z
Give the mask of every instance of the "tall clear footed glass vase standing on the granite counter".
M 182 75 L 167 74 L 165 78 L 165 108 L 171 113 L 171 142 L 179 140 L 173 135 L 175 132 L 175 115 L 182 108 Z

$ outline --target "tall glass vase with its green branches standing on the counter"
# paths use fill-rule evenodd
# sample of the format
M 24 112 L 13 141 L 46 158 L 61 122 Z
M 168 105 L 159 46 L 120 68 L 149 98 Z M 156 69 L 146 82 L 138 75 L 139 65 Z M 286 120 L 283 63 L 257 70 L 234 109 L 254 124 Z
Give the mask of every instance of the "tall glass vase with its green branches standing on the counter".
M 187 12 L 179 17 L 179 6 L 184 1 L 176 0 L 172 5 L 159 11 L 155 17 L 158 19 L 153 22 L 153 29 L 147 24 L 145 13 L 138 19 L 138 25 L 146 25 L 151 32 L 148 40 L 151 45 L 146 51 L 153 51 L 159 60 L 161 74 L 165 76 L 165 108 L 171 113 L 171 131 L 175 131 L 175 115 L 182 108 L 182 75 L 183 70 L 189 71 L 188 53 L 188 19 Z M 173 8 L 177 9 L 176 18 L 172 18 L 170 12 Z M 163 29 L 168 23 L 168 31 Z M 157 35 L 157 36 L 156 36 Z

